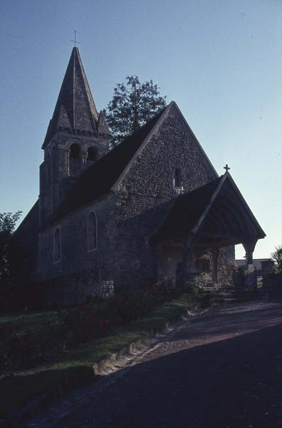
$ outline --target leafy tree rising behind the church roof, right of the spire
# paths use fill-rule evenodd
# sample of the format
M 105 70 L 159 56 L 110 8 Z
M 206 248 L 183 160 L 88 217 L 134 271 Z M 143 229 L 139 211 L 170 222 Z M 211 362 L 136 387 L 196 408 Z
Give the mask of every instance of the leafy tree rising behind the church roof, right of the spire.
M 160 96 L 159 89 L 152 80 L 140 83 L 138 76 L 127 76 L 126 83 L 117 83 L 104 110 L 112 146 L 117 146 L 166 106 L 166 96 Z

